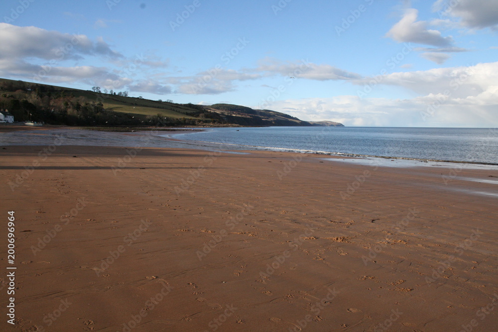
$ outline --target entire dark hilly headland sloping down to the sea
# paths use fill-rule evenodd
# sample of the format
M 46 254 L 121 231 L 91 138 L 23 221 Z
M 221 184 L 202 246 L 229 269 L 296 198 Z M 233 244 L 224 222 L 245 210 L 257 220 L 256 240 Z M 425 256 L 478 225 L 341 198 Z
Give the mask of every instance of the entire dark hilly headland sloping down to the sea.
M 277 111 L 231 104 L 176 104 L 127 97 L 126 92 L 100 92 L 96 87 L 94 90 L 0 79 L 0 108 L 10 111 L 16 121 L 85 126 L 311 126 L 337 123 L 307 122 Z

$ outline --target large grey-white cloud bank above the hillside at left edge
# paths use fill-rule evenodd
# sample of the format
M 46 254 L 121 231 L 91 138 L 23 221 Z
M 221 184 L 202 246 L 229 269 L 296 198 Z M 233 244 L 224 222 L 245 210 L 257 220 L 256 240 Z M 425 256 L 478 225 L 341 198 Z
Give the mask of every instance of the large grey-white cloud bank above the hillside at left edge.
M 113 70 L 112 67 L 62 65 L 63 61 L 80 60 L 88 55 L 122 66 Z M 142 60 L 149 61 L 147 57 Z M 70 35 L 34 26 L 20 27 L 0 23 L 2 77 L 19 77 L 47 83 L 80 82 L 107 89 L 123 89 L 133 82 L 128 76 L 134 75 L 131 74 L 130 64 L 135 66 L 136 61 L 137 59 L 124 59 L 123 55 L 112 50 L 101 37 L 92 41 L 86 35 Z M 139 62 L 136 63 L 140 65 Z

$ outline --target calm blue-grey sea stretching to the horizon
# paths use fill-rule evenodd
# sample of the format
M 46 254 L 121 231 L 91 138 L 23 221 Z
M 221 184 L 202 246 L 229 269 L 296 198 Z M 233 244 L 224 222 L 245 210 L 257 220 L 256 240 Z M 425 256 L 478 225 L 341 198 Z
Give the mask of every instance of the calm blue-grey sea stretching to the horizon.
M 497 128 L 213 128 L 175 138 L 235 144 L 247 149 L 498 165 Z

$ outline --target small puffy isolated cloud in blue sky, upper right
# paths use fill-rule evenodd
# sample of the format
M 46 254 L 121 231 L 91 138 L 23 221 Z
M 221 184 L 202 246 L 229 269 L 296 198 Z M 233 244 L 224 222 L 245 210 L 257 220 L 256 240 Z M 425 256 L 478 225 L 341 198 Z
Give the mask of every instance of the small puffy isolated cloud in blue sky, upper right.
M 453 44 L 452 37 L 443 37 L 440 31 L 427 29 L 427 22 L 417 21 L 417 16 L 417 9 L 405 9 L 401 20 L 392 26 L 386 36 L 397 42 L 413 42 L 439 47 L 448 47 Z

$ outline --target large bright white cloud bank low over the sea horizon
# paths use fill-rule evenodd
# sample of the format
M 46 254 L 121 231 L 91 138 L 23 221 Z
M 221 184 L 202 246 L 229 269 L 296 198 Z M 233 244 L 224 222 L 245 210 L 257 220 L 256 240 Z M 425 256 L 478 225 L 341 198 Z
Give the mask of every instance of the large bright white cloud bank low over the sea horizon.
M 370 78 L 356 83 L 368 84 Z M 392 73 L 381 84 L 418 94 L 411 99 L 333 98 L 276 101 L 267 109 L 304 120 L 364 126 L 475 126 L 498 124 L 498 62 L 470 67 Z

